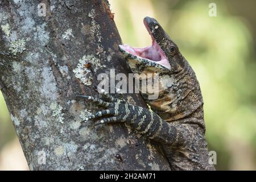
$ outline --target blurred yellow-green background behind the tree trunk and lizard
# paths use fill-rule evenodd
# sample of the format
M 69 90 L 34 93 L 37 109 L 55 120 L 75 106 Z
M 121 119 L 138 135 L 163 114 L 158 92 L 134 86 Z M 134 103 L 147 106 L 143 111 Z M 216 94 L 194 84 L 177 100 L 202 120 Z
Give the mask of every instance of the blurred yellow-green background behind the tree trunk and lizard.
M 217 152 L 216 169 L 255 170 L 256 1 L 109 2 L 123 43 L 135 47 L 151 44 L 143 25 L 144 16 L 151 16 L 192 65 L 203 92 L 209 150 Z M 216 3 L 216 17 L 208 14 L 209 3 Z M 0 169 L 7 168 L 1 162 L 6 146 L 10 148 L 10 143 L 14 143 L 16 150 L 20 150 L 15 141 L 15 131 L 0 94 Z M 14 167 L 26 168 L 24 163 Z

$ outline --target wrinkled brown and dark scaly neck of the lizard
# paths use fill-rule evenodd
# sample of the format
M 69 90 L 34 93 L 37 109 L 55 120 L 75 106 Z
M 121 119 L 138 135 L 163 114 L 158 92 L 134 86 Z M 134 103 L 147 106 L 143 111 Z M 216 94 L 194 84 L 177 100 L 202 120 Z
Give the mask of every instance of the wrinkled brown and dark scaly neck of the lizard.
M 196 115 L 195 118 L 204 119 L 200 85 L 187 61 L 179 73 L 160 76 L 159 85 L 159 97 L 156 100 L 144 99 L 161 118 L 176 121 Z

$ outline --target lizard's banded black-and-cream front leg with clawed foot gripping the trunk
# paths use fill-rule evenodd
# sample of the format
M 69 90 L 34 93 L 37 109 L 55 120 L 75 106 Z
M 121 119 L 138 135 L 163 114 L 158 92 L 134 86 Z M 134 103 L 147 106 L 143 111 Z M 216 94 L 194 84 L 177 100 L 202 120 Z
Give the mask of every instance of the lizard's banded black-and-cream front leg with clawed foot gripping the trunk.
M 85 121 L 94 120 L 97 122 L 96 125 L 126 122 L 150 139 L 159 140 L 159 142 L 165 144 L 184 142 L 183 132 L 185 130 L 181 129 L 181 132 L 177 134 L 176 126 L 170 125 L 153 111 L 128 104 L 109 94 L 104 94 L 102 100 L 90 96 L 79 96 L 79 98 L 84 98 L 97 105 L 106 107 L 106 110 L 96 112 L 86 118 Z

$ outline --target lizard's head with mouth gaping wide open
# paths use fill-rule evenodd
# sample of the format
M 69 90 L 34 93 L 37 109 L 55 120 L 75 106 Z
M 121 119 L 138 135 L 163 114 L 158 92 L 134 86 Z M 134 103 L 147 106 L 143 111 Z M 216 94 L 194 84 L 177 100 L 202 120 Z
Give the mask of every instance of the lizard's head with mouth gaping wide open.
M 184 67 L 184 59 L 176 44 L 154 18 L 146 17 L 143 22 L 151 36 L 152 45 L 144 48 L 129 45 L 119 46 L 121 52 L 127 57 L 133 72 L 140 73 L 139 69 L 141 67 L 154 67 L 155 71 L 160 70 L 160 72 L 175 73 L 181 71 Z

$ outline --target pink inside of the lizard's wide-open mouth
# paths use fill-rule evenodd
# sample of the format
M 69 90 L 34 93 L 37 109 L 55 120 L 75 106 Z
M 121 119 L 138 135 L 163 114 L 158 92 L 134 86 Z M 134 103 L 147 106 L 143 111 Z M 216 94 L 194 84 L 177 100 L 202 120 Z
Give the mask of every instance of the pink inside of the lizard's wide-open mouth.
M 170 69 L 171 68 L 170 63 L 168 62 L 166 55 L 164 55 L 163 50 L 160 48 L 154 36 L 152 35 L 146 19 L 144 19 L 144 25 L 151 36 L 151 39 L 152 39 L 151 46 L 147 46 L 144 48 L 137 48 L 137 47 L 131 47 L 125 44 L 125 45 L 121 45 L 120 47 L 134 56 L 147 59 L 149 61 L 152 61 L 156 64 L 160 64 L 163 67 Z M 158 27 L 155 27 L 155 28 L 158 28 Z

